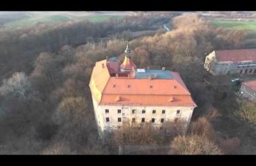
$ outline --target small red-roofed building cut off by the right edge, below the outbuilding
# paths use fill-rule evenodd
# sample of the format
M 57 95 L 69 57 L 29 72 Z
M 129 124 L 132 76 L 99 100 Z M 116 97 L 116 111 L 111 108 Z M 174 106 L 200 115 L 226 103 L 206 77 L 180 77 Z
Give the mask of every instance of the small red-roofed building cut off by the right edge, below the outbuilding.
M 256 102 L 256 80 L 243 82 L 239 90 L 239 95 L 252 102 Z

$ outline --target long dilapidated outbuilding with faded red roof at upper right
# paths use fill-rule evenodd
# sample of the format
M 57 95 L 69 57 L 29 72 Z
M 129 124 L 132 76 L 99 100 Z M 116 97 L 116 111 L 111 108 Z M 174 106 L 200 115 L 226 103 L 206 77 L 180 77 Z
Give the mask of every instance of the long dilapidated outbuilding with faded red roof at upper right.
M 204 68 L 212 75 L 256 73 L 256 49 L 214 50 Z

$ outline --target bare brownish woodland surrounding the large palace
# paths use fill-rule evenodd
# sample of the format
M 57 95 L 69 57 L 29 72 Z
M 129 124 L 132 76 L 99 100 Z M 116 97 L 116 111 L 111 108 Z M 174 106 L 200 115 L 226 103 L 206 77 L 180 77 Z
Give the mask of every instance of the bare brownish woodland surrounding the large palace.
M 231 84 L 205 84 L 205 79 L 221 83 L 229 77 L 213 79 L 204 70 L 205 56 L 212 50 L 251 48 L 256 36 L 212 27 L 198 13 L 158 11 L 97 23 L 81 20 L 1 30 L 0 154 L 118 154 L 120 133 L 105 141 L 99 138 L 88 84 L 96 61 L 124 58 L 127 38 L 138 67 L 165 66 L 179 72 L 198 107 L 186 135 L 177 132 L 159 141 L 150 130 L 132 134 L 126 143 L 164 141 L 170 144 L 170 155 L 256 152 L 256 105 L 237 102 Z

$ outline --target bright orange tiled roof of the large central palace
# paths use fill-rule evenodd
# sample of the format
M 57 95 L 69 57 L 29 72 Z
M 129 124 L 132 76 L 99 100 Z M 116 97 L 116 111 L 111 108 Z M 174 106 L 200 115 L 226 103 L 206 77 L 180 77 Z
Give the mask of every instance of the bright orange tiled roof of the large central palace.
M 135 79 L 111 77 L 116 63 L 99 61 L 93 68 L 90 89 L 101 105 L 179 105 L 196 107 L 179 73 L 172 79 Z M 119 72 L 120 73 L 120 72 Z

